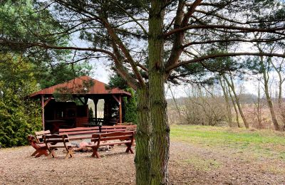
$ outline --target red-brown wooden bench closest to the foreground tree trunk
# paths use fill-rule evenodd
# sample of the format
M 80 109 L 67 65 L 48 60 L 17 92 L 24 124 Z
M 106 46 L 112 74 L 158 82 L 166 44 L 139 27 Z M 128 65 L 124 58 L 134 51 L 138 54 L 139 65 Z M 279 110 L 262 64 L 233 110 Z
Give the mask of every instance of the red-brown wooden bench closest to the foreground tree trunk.
M 91 157 L 100 158 L 98 153 L 98 148 L 101 146 L 107 145 L 115 145 L 115 144 L 126 144 L 127 149 L 125 152 L 130 152 L 133 154 L 133 141 L 135 138 L 135 132 L 110 132 L 110 133 L 100 133 L 100 134 L 92 134 L 91 142 L 94 144 L 89 144 L 86 147 L 90 147 L 93 149 L 93 153 Z

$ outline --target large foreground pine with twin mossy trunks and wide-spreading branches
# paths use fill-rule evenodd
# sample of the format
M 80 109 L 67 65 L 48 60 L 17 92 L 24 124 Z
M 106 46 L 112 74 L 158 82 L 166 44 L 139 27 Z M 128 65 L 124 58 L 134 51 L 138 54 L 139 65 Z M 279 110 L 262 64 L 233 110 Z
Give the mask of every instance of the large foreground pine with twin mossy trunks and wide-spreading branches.
M 53 21 L 60 29 L 48 29 L 46 33 L 33 29 L 36 33 L 28 31 L 29 38 L 25 39 L 2 31 L 1 46 L 28 51 L 39 48 L 49 54 L 73 51 L 74 61 L 80 58 L 113 61 L 116 72 L 138 92 L 137 184 L 170 184 L 167 171 L 170 127 L 164 83 L 181 76 L 175 69 L 210 58 L 284 57 L 280 53 L 238 49 L 243 43 L 284 40 L 283 1 L 53 0 L 38 1 L 35 8 L 41 15 L 38 29 L 46 21 Z M 253 11 L 263 14 L 254 17 L 249 14 Z M 41 12 L 53 19 L 43 18 Z M 272 12 L 280 16 L 271 16 Z M 253 38 L 252 33 L 259 32 L 273 36 Z M 56 39 L 64 36 L 73 36 L 73 42 L 59 46 Z M 74 44 L 78 40 L 86 44 Z M 235 43 L 227 52 L 204 52 L 209 44 L 227 42 Z

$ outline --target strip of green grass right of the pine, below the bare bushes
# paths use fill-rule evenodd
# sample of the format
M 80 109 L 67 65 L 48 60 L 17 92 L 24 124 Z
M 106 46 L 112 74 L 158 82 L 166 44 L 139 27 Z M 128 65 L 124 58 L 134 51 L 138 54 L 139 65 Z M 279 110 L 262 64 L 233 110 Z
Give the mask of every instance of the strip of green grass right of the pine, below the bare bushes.
M 172 141 L 285 161 L 283 132 L 197 125 L 171 125 L 170 128 Z

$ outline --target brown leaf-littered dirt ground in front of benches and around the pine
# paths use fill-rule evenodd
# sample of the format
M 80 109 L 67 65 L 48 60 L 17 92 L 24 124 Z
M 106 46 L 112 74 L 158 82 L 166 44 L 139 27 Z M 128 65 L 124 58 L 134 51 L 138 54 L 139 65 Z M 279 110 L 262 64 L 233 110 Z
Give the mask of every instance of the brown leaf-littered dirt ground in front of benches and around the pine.
M 33 158 L 32 147 L 0 149 L 0 184 L 135 184 L 134 154 L 124 146 L 100 152 L 76 152 L 75 158 Z M 285 184 L 285 162 L 182 142 L 170 147 L 171 184 Z

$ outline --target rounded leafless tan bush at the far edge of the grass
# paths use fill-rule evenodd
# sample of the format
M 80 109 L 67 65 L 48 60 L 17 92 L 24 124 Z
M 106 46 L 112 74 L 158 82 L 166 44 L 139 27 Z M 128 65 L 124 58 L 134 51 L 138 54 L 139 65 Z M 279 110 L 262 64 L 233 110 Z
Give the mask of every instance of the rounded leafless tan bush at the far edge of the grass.
M 227 123 L 227 108 L 221 95 L 205 88 L 192 86 L 188 97 L 174 104 L 170 101 L 168 115 L 172 124 L 220 125 Z M 177 106 L 178 105 L 178 106 Z M 179 110 L 177 110 L 179 109 Z

